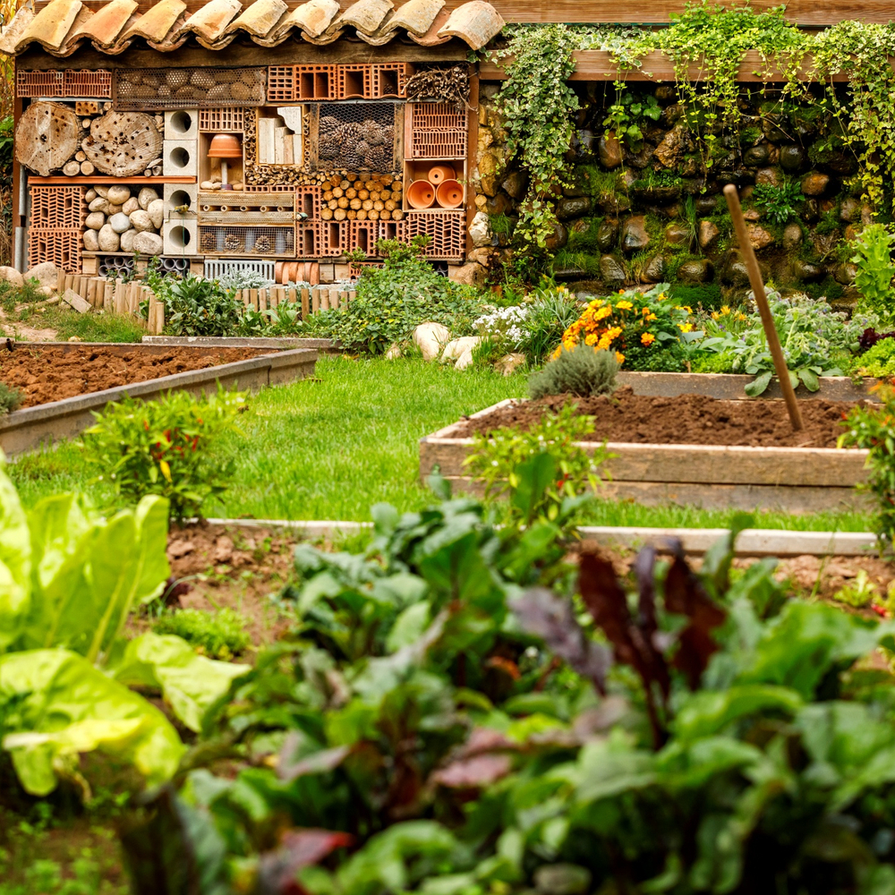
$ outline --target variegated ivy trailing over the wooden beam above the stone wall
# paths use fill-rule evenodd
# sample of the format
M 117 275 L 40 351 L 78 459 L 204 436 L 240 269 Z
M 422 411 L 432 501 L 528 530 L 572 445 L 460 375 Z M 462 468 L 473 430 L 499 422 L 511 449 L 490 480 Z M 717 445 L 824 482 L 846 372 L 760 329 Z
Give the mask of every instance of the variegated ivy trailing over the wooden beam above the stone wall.
M 556 224 L 554 198 L 564 185 L 565 154 L 578 108 L 567 84 L 575 70 L 575 49 L 609 51 L 618 66 L 619 84 L 625 72 L 644 68 L 652 51 L 668 55 L 685 109 L 683 122 L 695 138 L 703 173 L 712 167 L 712 150 L 723 132 L 742 124 L 738 70 L 746 51 L 757 50 L 762 65 L 756 73 L 768 81 L 782 80 L 776 85 L 779 101 L 823 104 L 830 110 L 839 125 L 834 139 L 857 158 L 866 198 L 879 211 L 888 196 L 895 210 L 895 72 L 889 64 L 895 55 L 895 24 L 841 21 L 810 33 L 788 22 L 784 10 L 725 10 L 703 0 L 687 4 L 684 13 L 672 17 L 669 28 L 657 31 L 561 24 L 507 28 L 507 45 L 494 54 L 497 61 L 512 57 L 498 97 L 499 111 L 509 158 L 531 176 L 516 227 L 516 248 L 536 249 L 542 255 Z M 695 80 L 692 68 L 699 72 Z M 816 95 L 809 90 L 799 78 L 803 70 L 824 89 Z M 771 77 L 772 72 L 778 73 Z M 832 81 L 840 74 L 848 75 L 845 103 Z

